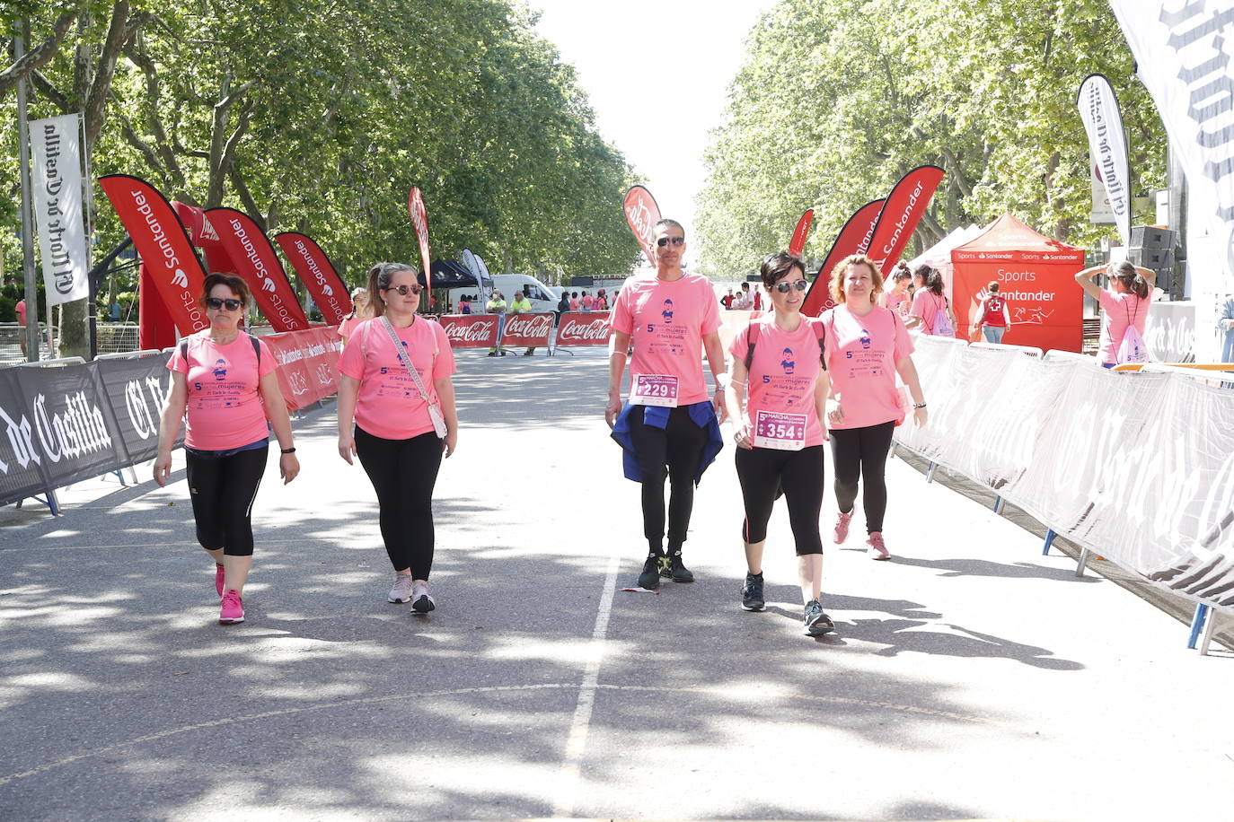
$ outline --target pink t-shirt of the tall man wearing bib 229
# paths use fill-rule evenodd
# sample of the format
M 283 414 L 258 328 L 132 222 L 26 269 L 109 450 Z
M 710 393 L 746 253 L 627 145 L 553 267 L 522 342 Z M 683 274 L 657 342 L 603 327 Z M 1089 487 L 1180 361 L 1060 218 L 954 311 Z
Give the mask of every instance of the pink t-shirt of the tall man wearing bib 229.
M 711 280 L 685 274 L 663 281 L 654 274 L 632 277 L 622 286 L 608 323 L 615 332 L 633 335 L 636 375 L 659 373 L 679 378 L 677 405 L 708 399 L 702 378 L 702 335 L 719 329 L 719 307 Z

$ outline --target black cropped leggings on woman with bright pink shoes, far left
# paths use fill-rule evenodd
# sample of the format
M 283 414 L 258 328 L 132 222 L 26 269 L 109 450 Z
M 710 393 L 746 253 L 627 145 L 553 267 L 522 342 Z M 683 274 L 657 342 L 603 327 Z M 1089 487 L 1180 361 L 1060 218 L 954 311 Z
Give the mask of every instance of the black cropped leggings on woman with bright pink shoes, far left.
M 226 457 L 197 456 L 184 450 L 197 542 L 230 557 L 253 556 L 253 500 L 265 473 L 269 445 Z

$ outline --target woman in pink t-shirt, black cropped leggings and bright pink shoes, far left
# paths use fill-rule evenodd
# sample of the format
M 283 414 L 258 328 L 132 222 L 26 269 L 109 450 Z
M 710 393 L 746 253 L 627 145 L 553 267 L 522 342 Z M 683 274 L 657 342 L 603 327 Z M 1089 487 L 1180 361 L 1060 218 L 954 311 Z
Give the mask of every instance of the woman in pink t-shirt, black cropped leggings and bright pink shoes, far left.
M 215 561 L 218 621 L 244 621 L 244 582 L 253 566 L 251 513 L 269 454 L 269 418 L 283 450 L 279 473 L 300 473 L 291 420 L 274 373 L 274 355 L 239 328 L 251 297 L 237 276 L 206 277 L 201 307 L 210 328 L 180 340 L 167 367 L 172 391 L 159 420 L 154 482 L 172 477 L 172 446 L 188 417 L 184 460 L 197 541 Z

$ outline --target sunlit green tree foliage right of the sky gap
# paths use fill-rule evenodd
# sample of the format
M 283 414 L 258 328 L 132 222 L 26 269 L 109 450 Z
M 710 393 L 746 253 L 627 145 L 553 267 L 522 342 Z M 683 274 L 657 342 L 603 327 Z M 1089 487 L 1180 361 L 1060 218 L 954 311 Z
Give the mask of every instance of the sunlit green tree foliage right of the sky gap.
M 909 169 L 946 170 L 908 251 L 1012 211 L 1087 245 L 1087 138 L 1076 110 L 1102 71 L 1130 131 L 1137 193 L 1164 186 L 1165 132 L 1104 0 L 782 0 L 747 59 L 707 153 L 705 262 L 744 274 L 816 208 L 807 255 Z

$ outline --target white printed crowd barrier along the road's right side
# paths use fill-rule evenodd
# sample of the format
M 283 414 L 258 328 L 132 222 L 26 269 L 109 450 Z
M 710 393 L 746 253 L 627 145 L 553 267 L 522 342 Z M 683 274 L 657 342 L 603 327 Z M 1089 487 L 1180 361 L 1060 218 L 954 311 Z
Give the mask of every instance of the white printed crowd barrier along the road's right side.
M 1146 582 L 1234 612 L 1234 391 L 922 336 L 896 442 Z

